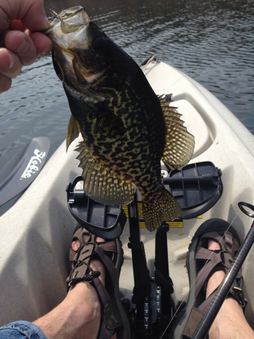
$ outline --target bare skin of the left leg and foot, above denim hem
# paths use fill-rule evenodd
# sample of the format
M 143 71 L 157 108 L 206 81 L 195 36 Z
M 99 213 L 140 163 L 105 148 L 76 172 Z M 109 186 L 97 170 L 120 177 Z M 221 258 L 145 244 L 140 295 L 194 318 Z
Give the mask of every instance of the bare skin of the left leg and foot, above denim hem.
M 72 243 L 72 248 L 75 251 L 79 248 L 78 241 Z M 103 264 L 92 260 L 90 266 L 101 272 L 100 279 L 104 284 Z M 48 339 L 96 339 L 100 320 L 101 306 L 96 291 L 90 284 L 80 282 L 71 287 L 66 298 L 55 309 L 34 324 L 42 329 Z M 116 338 L 116 333 L 112 338 Z

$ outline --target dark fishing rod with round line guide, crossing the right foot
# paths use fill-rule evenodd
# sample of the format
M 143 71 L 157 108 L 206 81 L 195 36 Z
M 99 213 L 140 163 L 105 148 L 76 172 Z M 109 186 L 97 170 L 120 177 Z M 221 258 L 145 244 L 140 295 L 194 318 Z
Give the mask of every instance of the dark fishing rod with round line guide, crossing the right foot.
M 238 206 L 240 210 L 248 215 L 250 218 L 254 218 L 254 214 L 247 211 L 244 207 L 249 208 L 251 211 L 254 212 L 254 206 L 246 203 L 246 202 L 239 202 Z M 251 224 L 250 230 L 248 231 L 238 253 L 234 263 L 232 263 L 231 269 L 229 273 L 225 276 L 223 282 L 221 283 L 222 286 L 218 291 L 217 295 L 214 297 L 213 302 L 209 306 L 207 312 L 205 313 L 203 319 L 199 323 L 192 339 L 204 339 L 221 307 L 224 300 L 226 299 L 232 284 L 234 283 L 236 276 L 242 267 L 242 264 L 251 249 L 251 246 L 254 242 L 254 221 Z

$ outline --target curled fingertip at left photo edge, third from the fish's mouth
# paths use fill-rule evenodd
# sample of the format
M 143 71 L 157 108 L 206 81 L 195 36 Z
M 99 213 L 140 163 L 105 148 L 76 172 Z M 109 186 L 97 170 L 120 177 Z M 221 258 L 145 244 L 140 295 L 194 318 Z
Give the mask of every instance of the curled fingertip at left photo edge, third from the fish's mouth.
M 16 78 L 21 72 L 21 68 L 21 61 L 16 54 L 6 48 L 0 48 L 0 75 Z

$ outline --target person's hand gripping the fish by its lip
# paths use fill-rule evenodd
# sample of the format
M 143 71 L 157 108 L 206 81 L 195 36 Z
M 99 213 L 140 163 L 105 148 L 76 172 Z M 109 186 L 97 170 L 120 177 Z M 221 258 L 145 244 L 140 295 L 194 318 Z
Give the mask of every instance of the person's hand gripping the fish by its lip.
M 49 26 L 43 0 L 0 1 L 0 93 L 11 87 L 22 66 L 51 51 L 50 39 L 37 32 Z

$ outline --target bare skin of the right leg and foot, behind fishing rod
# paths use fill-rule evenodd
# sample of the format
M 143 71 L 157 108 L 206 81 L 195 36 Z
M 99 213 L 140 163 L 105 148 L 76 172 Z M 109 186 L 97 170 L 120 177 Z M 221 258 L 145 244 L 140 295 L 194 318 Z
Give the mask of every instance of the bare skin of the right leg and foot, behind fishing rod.
M 217 242 L 208 241 L 209 250 L 218 250 Z M 221 283 L 225 276 L 224 271 L 216 271 L 208 280 L 206 297 Z M 254 331 L 248 325 L 242 310 L 242 306 L 234 299 L 225 299 L 210 331 L 209 339 L 253 339 Z

